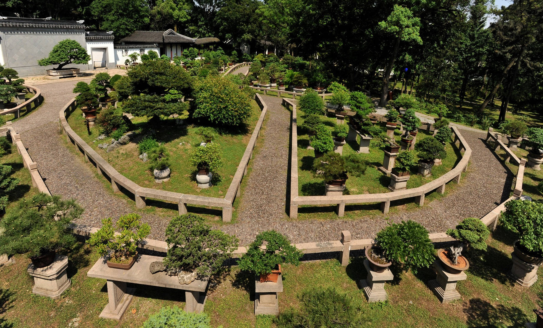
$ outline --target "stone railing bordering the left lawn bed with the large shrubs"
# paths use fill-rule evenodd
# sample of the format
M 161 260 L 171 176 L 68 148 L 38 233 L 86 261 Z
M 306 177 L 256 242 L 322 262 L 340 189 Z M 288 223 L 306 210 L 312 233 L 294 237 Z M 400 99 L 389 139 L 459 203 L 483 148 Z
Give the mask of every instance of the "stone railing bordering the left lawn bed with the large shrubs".
M 66 104 L 66 106 L 60 110 L 59 121 L 61 131 L 66 134 L 68 141 L 75 145 L 78 150 L 84 154 L 86 160 L 89 160 L 89 162 L 96 166 L 96 170 L 98 171 L 99 175 L 103 175 L 106 178 L 109 178 L 111 182 L 111 188 L 114 192 L 120 191 L 119 189 L 122 187 L 130 194 L 134 195 L 134 200 L 136 202 L 137 208 L 145 207 L 147 198 L 177 203 L 179 214 L 187 213 L 187 204 L 220 207 L 222 208 L 223 212 L 223 221 L 230 222 L 232 220 L 232 203 L 235 200 L 235 197 L 239 196 L 241 192 L 241 181 L 243 176 L 247 174 L 247 165 L 249 164 L 249 160 L 252 157 L 252 151 L 255 147 L 256 139 L 258 138 L 258 134 L 260 133 L 260 129 L 262 128 L 264 117 L 266 116 L 268 110 L 266 103 L 264 103 L 260 95 L 256 95 L 255 100 L 258 103 L 258 106 L 261 108 L 262 114 L 260 115 L 258 122 L 256 123 L 255 129 L 251 135 L 251 139 L 249 140 L 249 144 L 245 148 L 245 152 L 243 154 L 241 162 L 238 165 L 236 174 L 234 175 L 234 178 L 230 183 L 230 187 L 228 188 L 228 191 L 226 192 L 226 196 L 224 198 L 188 195 L 175 193 L 173 191 L 144 188 L 137 183 L 131 181 L 129 178 L 120 174 L 117 170 L 113 168 L 113 166 L 111 166 L 105 159 L 103 159 L 102 156 L 94 151 L 91 146 L 87 145 L 87 143 L 85 143 L 85 141 L 72 130 L 70 125 L 68 125 L 66 116 L 68 115 L 68 112 L 72 112 L 77 107 L 77 101 L 75 101 L 75 98 L 70 100 Z

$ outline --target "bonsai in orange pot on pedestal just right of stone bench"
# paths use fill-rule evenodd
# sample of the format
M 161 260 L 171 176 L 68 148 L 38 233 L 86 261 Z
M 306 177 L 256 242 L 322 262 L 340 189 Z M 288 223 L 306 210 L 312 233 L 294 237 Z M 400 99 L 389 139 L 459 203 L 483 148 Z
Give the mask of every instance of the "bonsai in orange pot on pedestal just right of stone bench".
M 263 247 L 266 245 L 266 247 Z M 281 264 L 300 264 L 304 255 L 287 237 L 270 230 L 257 234 L 238 262 L 239 269 L 260 275 L 260 282 L 277 282 L 280 279 Z

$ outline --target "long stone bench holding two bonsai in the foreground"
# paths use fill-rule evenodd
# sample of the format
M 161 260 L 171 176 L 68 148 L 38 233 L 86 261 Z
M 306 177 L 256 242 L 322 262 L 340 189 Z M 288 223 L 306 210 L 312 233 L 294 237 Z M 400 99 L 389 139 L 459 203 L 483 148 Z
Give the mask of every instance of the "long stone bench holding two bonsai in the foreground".
M 151 274 L 149 265 L 162 259 L 163 257 L 160 256 L 140 255 L 130 270 L 110 268 L 103 258 L 98 259 L 87 276 L 108 281 L 109 303 L 100 313 L 100 318 L 121 320 L 135 293 L 135 288 L 127 288 L 127 282 L 184 290 L 185 311 L 202 312 L 207 299 L 205 292 L 208 280 L 194 280 L 190 284 L 180 284 L 177 276 L 168 276 L 165 272 Z

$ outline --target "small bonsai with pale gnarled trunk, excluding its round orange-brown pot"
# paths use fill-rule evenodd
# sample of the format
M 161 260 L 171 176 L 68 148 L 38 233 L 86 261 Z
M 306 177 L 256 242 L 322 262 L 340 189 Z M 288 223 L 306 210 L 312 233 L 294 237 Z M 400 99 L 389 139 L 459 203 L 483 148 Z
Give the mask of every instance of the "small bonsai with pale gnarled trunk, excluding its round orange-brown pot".
M 490 231 L 481 220 L 466 218 L 456 228 L 447 230 L 447 234 L 457 240 L 456 244 L 450 247 L 449 252 L 452 263 L 457 264 L 458 256 L 462 255 L 462 251 L 468 245 L 476 250 L 487 250 Z

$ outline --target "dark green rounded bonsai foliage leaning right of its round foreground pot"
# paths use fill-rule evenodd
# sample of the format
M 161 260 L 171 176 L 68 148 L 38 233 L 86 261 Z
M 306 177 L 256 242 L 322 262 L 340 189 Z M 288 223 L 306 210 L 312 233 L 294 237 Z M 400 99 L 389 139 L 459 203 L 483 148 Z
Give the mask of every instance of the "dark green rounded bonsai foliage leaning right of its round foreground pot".
M 430 268 L 435 258 L 428 230 L 411 220 L 385 227 L 377 233 L 375 245 L 389 262 L 400 263 L 403 270 L 411 269 L 414 274 L 418 268 Z

